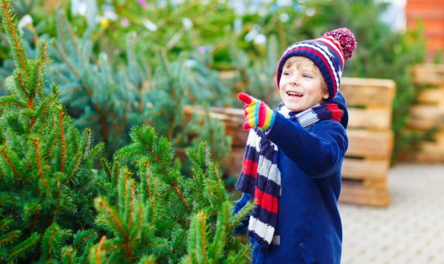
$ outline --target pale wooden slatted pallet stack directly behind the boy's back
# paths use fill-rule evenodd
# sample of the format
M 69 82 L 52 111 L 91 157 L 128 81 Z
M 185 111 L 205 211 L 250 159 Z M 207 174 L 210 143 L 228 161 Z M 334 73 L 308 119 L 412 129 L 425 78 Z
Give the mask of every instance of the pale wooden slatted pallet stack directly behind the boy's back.
M 395 83 L 392 80 L 344 77 L 341 93 L 349 112 L 349 145 L 342 165 L 339 201 L 387 206 Z

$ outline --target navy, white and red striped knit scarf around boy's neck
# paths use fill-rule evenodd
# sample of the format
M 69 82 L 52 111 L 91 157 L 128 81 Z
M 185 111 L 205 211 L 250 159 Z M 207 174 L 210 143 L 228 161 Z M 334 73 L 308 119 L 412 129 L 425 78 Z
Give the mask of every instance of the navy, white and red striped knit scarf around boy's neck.
M 302 112 L 291 112 L 280 103 L 277 111 L 305 129 L 311 128 L 321 120 L 331 119 L 340 122 L 344 113 L 338 105 L 328 103 L 314 105 Z M 268 248 L 271 244 L 276 228 L 277 201 L 281 187 L 277 157 L 277 146 L 263 138 L 259 129 L 251 129 L 236 189 L 250 194 L 256 200 L 247 234 L 263 248 Z

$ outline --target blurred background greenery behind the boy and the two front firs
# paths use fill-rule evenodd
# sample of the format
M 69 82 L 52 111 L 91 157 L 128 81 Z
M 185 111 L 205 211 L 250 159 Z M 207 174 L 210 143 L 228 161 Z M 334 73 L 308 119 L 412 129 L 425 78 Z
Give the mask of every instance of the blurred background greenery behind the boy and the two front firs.
M 393 157 L 417 137 L 404 130 L 418 89 L 410 68 L 422 63 L 422 31 L 398 32 L 379 19 L 387 3 L 374 0 L 12 0 L 33 57 L 40 38 L 51 44 L 49 81 L 81 129 L 91 127 L 108 155 L 128 143 L 139 124 L 155 126 L 175 146 L 199 138 L 229 152 L 223 133 L 185 121 L 186 104 L 240 107 L 246 91 L 278 103 L 275 69 L 293 42 L 350 28 L 358 46 L 343 76 L 393 79 Z M 11 73 L 4 33 L 0 78 Z M 1 82 L 2 83 L 2 82 Z M 49 82 L 47 82 L 49 84 Z M 4 87 L 1 94 L 6 94 Z M 205 126 L 209 119 L 205 119 Z M 223 124 L 213 124 L 219 130 Z M 212 130 L 209 130 L 212 131 Z M 196 138 L 196 136 L 198 136 Z

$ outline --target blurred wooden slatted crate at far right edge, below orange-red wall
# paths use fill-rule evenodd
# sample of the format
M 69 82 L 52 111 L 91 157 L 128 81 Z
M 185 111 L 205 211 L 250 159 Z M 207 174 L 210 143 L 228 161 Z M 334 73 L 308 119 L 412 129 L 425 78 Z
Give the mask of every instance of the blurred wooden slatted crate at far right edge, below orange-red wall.
M 412 107 L 407 127 L 422 133 L 437 129 L 432 141 L 423 141 L 418 150 L 404 158 L 420 162 L 444 162 L 444 64 L 422 64 L 413 68 L 413 81 L 426 88 Z

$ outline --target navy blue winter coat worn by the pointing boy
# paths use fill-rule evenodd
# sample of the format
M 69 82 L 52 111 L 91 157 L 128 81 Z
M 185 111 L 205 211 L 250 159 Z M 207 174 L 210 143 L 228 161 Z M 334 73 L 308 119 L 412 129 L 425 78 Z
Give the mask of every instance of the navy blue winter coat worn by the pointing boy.
M 274 243 L 263 249 L 250 239 L 252 264 L 340 263 L 342 225 L 337 201 L 348 146 L 348 113 L 340 93 L 333 102 L 344 110 L 341 123 L 323 120 L 305 130 L 275 112 L 270 131 L 263 134 L 279 148 L 282 192 Z M 251 199 L 243 193 L 235 202 L 235 212 Z M 248 219 L 237 233 L 247 225 Z

